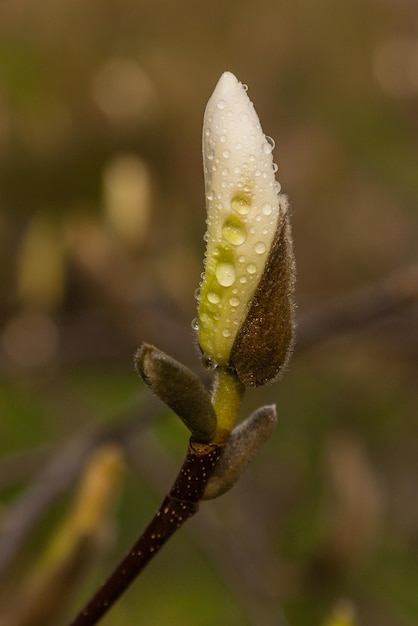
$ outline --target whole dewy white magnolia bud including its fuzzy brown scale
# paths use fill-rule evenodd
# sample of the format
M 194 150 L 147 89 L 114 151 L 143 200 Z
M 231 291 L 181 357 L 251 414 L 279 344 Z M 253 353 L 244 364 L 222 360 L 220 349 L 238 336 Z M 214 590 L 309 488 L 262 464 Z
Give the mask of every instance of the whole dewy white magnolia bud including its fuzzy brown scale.
M 293 342 L 292 240 L 273 147 L 245 87 L 222 74 L 203 123 L 207 251 L 196 326 L 204 361 L 250 386 L 277 376 Z

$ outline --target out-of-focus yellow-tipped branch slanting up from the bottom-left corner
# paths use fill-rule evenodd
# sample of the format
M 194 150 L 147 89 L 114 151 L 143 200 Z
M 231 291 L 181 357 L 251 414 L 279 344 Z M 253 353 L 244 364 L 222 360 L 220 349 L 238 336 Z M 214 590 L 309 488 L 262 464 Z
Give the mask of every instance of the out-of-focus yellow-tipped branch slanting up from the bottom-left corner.
M 67 518 L 46 549 L 14 589 L 4 592 L 0 623 L 7 626 L 54 625 L 79 588 L 95 553 L 108 542 L 110 510 L 121 480 L 123 455 L 104 445 L 86 459 L 78 493 Z

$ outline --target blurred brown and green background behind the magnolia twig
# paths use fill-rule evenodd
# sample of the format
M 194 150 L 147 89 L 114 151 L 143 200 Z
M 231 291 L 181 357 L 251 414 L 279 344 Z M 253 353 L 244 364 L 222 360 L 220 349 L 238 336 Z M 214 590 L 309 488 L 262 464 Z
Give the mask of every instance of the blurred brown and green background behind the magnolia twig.
M 3 544 L 58 451 L 125 433 L 112 524 L 55 625 L 129 548 L 186 449 L 185 428 L 137 379 L 135 349 L 155 343 L 210 384 L 190 322 L 201 123 L 225 70 L 249 85 L 276 140 L 300 332 L 310 311 L 416 263 L 413 0 L 0 3 Z M 103 625 L 418 623 L 416 280 L 409 288 L 415 304 L 301 341 L 280 383 L 247 394 L 242 417 L 277 404 L 274 437 Z M 59 476 L 58 463 L 48 484 Z M 5 571 L 9 608 L 71 510 L 73 481 L 57 491 Z

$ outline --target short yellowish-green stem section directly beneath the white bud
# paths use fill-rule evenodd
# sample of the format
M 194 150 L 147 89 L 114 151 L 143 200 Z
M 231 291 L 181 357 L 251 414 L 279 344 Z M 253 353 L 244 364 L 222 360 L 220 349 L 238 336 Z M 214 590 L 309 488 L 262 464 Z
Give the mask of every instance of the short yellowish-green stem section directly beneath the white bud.
M 212 403 L 218 418 L 215 443 L 223 443 L 232 431 L 245 386 L 231 372 L 218 367 L 215 373 Z

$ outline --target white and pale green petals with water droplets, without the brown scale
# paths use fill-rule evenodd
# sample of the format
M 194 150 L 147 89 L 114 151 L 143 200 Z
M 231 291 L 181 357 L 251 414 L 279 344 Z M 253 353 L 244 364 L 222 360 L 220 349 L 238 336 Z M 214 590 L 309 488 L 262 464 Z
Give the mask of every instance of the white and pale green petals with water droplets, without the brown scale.
M 286 220 L 273 148 L 246 88 L 225 72 L 203 122 L 207 251 L 198 339 L 214 366 L 230 365 L 234 341 Z

